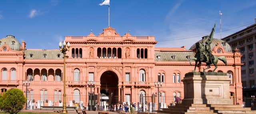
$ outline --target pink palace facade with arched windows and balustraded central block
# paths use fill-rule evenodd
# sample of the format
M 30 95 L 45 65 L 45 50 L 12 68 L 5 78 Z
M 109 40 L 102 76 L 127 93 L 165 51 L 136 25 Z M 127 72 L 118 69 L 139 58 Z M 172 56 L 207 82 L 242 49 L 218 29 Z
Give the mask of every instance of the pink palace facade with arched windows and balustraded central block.
M 154 82 L 159 81 L 162 82 L 159 102 L 165 107 L 164 103 L 169 105 L 174 96 L 183 98 L 181 80 L 194 69 L 189 61 L 194 57 L 195 45 L 189 50 L 185 46 L 158 48 L 153 36 L 129 33 L 121 36 L 110 27 L 98 36 L 93 33 L 66 36 L 65 41 L 70 42 L 66 51 L 66 102 L 69 106 L 74 106 L 74 102 L 87 106 L 90 98 L 94 98 L 94 103 L 157 102 L 158 98 L 152 101 L 151 96 L 157 95 L 158 85 Z M 226 56 L 228 65 L 220 61 L 216 71 L 228 74 L 230 98 L 234 104 L 241 104 L 240 53 L 238 50 L 232 53 L 230 45 L 220 39 L 213 39 L 211 47 L 213 55 Z M 203 68 L 202 63 L 197 71 Z M 27 97 L 31 102 L 35 100 L 34 108 L 39 108 L 40 101 L 41 106 L 62 105 L 64 59 L 59 49 L 26 49 L 24 41 L 20 44 L 14 36 L 7 35 L 0 39 L 0 69 L 1 92 L 19 88 L 26 94 L 26 83 L 22 82 L 27 80 L 30 81 Z M 94 81 L 94 86 L 88 86 L 88 81 Z M 89 96 L 91 92 L 94 96 Z

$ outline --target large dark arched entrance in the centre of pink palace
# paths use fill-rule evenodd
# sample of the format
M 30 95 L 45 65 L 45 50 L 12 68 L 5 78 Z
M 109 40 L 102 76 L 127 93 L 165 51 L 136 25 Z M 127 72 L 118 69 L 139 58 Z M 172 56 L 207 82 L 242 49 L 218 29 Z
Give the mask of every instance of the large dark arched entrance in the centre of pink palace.
M 101 102 L 106 104 L 115 104 L 118 102 L 118 76 L 113 71 L 105 71 L 100 77 L 100 98 Z

